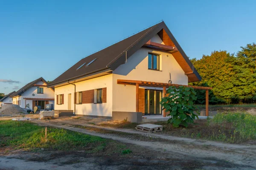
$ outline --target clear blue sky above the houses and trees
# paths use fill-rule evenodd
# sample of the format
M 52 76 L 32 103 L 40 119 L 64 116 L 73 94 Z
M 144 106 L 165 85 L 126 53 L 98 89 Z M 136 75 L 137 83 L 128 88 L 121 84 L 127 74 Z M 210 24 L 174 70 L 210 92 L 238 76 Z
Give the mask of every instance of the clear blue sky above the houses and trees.
M 79 59 L 164 20 L 187 56 L 256 41 L 255 0 L 0 1 L 0 93 L 53 80 Z M 10 81 L 12 80 L 12 81 Z

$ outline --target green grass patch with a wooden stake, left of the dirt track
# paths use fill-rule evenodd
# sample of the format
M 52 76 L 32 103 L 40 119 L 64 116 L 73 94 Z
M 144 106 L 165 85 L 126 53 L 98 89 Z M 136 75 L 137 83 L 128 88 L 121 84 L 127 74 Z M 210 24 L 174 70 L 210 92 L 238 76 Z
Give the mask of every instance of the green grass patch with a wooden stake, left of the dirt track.
M 30 122 L 0 121 L 0 147 L 23 148 L 25 150 L 85 150 L 88 153 L 97 153 L 104 150 L 122 153 L 118 142 L 59 128 L 47 128 L 34 125 Z M 121 144 L 123 145 L 123 144 Z

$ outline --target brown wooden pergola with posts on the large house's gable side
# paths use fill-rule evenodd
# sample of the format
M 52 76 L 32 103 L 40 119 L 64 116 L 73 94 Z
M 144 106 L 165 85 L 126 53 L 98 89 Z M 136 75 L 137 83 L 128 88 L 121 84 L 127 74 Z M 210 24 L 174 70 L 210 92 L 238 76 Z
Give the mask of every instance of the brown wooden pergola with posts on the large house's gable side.
M 178 84 L 170 84 L 170 83 L 161 83 L 161 82 L 148 82 L 148 81 L 140 81 L 140 80 L 125 80 L 125 79 L 117 79 L 117 84 L 121 85 L 135 85 L 136 86 L 136 112 L 139 111 L 139 86 L 149 86 L 149 87 L 160 87 L 163 88 L 163 94 L 166 94 L 166 87 L 169 86 L 185 86 L 191 87 L 198 90 L 205 90 L 205 108 L 206 108 L 206 116 L 209 116 L 209 90 L 212 88 L 202 87 L 202 86 L 194 86 L 194 85 L 178 85 Z M 166 117 L 166 112 L 163 111 L 163 117 Z

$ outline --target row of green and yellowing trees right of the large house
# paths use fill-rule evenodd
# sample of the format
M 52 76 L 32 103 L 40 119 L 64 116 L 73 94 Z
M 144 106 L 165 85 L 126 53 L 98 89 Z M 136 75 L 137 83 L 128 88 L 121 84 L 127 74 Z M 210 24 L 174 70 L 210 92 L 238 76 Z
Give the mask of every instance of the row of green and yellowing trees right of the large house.
M 256 44 L 241 47 L 237 54 L 214 51 L 201 59 L 191 59 L 202 77 L 190 85 L 212 87 L 209 103 L 256 102 Z M 205 103 L 205 91 L 197 92 L 197 103 Z

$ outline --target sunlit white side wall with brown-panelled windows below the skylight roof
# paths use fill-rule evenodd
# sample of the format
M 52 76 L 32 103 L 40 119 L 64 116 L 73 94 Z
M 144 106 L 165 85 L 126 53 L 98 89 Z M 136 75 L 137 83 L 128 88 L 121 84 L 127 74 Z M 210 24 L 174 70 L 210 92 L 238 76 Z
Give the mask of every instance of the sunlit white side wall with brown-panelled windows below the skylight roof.
M 112 74 L 94 79 L 88 79 L 82 82 L 77 82 L 76 92 L 87 91 L 98 88 L 107 88 L 106 103 L 89 103 L 76 104 L 76 114 L 93 115 L 93 116 L 112 116 Z M 58 94 L 64 94 L 64 104 L 57 105 L 56 97 Z M 71 94 L 71 109 L 74 109 L 74 85 L 65 85 L 55 88 L 55 110 L 67 110 L 68 94 Z

